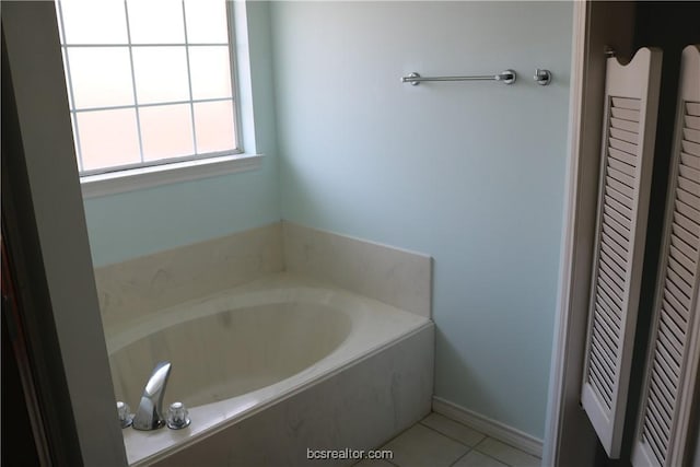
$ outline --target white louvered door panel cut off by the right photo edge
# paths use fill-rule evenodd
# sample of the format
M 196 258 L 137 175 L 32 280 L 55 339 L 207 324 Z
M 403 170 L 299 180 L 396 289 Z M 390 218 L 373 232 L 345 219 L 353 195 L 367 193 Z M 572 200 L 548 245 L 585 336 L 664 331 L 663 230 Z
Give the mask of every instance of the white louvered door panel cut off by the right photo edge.
M 677 105 L 635 466 L 685 465 L 700 352 L 700 46 L 684 50 Z

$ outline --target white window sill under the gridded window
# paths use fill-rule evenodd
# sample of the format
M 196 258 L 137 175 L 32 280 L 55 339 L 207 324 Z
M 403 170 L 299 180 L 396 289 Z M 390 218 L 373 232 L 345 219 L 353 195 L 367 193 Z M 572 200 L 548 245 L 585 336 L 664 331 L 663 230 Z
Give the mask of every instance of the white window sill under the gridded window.
M 235 154 L 153 167 L 131 168 L 80 178 L 83 198 L 115 195 L 217 175 L 233 174 L 260 167 L 262 154 Z

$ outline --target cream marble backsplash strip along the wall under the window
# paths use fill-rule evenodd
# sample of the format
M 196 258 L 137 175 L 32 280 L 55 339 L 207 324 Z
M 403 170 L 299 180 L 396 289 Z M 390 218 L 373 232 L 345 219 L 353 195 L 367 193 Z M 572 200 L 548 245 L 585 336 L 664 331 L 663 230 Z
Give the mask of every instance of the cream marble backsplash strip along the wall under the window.
M 282 271 L 279 222 L 95 268 L 105 330 L 167 306 Z

